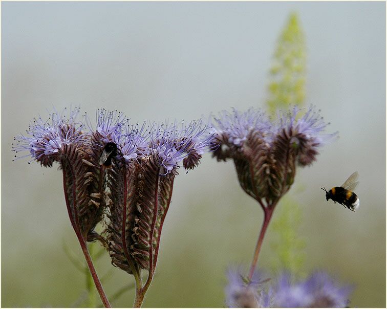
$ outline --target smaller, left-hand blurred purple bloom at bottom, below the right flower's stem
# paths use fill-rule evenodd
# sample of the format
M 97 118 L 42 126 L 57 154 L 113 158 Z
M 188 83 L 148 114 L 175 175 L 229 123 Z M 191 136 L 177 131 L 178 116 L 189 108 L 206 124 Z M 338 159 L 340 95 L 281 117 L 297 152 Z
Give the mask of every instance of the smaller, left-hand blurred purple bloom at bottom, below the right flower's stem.
M 250 282 L 242 277 L 240 268 L 229 269 L 227 272 L 226 305 L 230 308 L 265 308 L 270 307 L 271 297 L 262 287 L 267 278 L 255 271 Z

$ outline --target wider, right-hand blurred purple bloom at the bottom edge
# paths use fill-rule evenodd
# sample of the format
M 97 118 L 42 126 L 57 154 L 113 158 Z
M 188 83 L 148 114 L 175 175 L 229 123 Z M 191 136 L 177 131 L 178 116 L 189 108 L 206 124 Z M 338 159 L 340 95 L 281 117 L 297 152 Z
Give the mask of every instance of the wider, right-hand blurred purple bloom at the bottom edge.
M 324 272 L 316 272 L 305 281 L 291 283 L 290 276 L 279 277 L 274 287 L 275 307 L 336 307 L 349 304 L 351 286 L 339 286 Z

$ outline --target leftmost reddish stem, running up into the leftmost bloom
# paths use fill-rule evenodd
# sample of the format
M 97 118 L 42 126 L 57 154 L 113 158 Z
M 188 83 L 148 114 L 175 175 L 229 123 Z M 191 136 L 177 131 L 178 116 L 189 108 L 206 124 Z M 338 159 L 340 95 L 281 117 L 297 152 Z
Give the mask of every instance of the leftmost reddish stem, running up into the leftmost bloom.
M 81 246 L 84 258 L 86 260 L 86 263 L 88 264 L 90 273 L 91 273 L 91 275 L 93 277 L 95 286 L 97 288 L 97 291 L 98 291 L 98 294 L 99 294 L 99 296 L 101 298 L 103 306 L 105 308 L 110 308 L 111 305 L 109 303 L 109 300 L 107 300 L 105 292 L 103 291 L 101 281 L 98 278 L 97 272 L 96 272 L 96 270 L 94 268 L 93 261 L 92 261 L 92 259 L 90 257 L 89 250 L 88 250 L 88 247 L 86 245 L 86 241 L 84 240 L 84 237 L 83 237 L 83 235 L 82 235 L 82 233 L 80 231 L 79 218 L 78 218 L 78 214 L 77 214 L 76 209 L 75 209 L 75 205 L 76 205 L 75 175 L 74 175 L 73 169 L 71 168 L 71 165 L 70 165 L 70 162 L 69 162 L 68 158 L 66 158 L 66 161 L 67 162 L 62 160 L 61 164 L 62 164 L 62 167 L 64 167 L 65 164 L 67 164 L 67 166 L 68 166 L 68 168 L 69 168 L 69 170 L 71 172 L 72 183 L 73 183 L 72 193 L 73 193 L 74 217 L 73 217 L 73 212 L 72 212 L 71 205 L 69 203 L 69 197 L 67 196 L 66 175 L 65 175 L 65 170 L 63 170 L 63 190 L 65 191 L 65 200 L 66 200 L 67 211 L 68 211 L 69 217 L 70 217 L 70 222 L 71 222 L 71 225 L 73 226 L 75 234 L 77 235 L 77 238 L 78 238 L 78 241 L 79 241 L 79 245 Z

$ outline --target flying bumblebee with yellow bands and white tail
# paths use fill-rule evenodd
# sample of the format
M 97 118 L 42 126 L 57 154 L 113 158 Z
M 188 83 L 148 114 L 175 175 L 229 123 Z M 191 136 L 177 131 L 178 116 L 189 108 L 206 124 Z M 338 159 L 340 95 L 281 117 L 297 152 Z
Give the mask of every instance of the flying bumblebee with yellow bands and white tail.
M 359 174 L 354 172 L 340 187 L 333 187 L 329 191 L 326 188 L 321 188 L 326 192 L 327 201 L 331 199 L 333 202 L 347 207 L 349 210 L 355 211 L 360 206 L 359 197 L 353 192 L 357 184 Z

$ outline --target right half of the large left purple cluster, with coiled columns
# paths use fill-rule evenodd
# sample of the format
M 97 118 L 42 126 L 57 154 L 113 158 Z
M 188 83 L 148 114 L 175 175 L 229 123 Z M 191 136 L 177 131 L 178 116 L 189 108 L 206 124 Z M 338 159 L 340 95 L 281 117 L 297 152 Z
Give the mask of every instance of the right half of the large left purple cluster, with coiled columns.
M 154 271 L 178 168 L 181 163 L 186 169 L 197 166 L 213 139 L 200 121 L 187 126 L 153 124 L 143 131 L 149 140 L 142 140 L 141 156 L 130 165 L 117 160 L 110 172 L 110 253 L 113 263 L 128 273 L 133 272 L 131 263 Z M 125 236 L 121 230 L 126 231 Z

